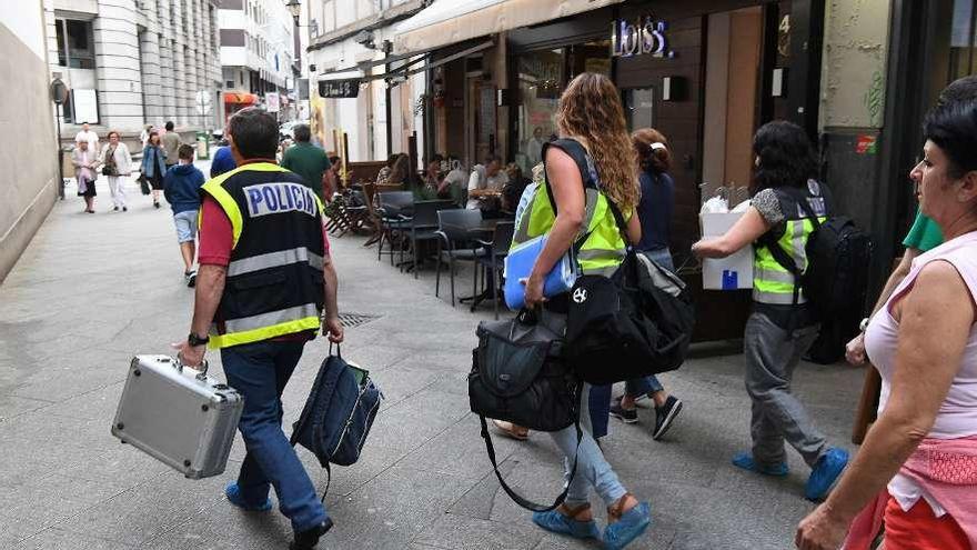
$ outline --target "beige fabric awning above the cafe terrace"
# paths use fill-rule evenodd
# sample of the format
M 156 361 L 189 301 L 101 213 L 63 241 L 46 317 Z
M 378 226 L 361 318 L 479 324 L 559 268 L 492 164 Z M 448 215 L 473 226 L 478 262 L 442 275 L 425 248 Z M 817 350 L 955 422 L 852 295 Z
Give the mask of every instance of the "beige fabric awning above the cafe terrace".
M 394 29 L 394 53 L 430 51 L 623 0 L 435 0 Z

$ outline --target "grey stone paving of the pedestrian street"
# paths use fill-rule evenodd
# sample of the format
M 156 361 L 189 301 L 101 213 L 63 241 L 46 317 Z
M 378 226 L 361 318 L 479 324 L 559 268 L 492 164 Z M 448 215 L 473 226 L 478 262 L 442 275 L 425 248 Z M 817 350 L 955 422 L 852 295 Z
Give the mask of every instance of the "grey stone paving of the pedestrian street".
M 223 498 L 243 457 L 240 438 L 224 474 L 190 481 L 109 433 L 129 360 L 167 353 L 185 337 L 192 291 L 170 211 L 130 184 L 130 211 L 107 212 L 108 189 L 98 191 L 92 216 L 69 188 L 0 286 L 0 548 L 286 548 L 281 514 L 242 513 Z M 415 280 L 362 243 L 332 241 L 340 309 L 369 317 L 349 329 L 342 352 L 371 370 L 386 400 L 362 460 L 334 468 L 326 502 L 335 528 L 320 548 L 598 548 L 544 533 L 492 473 L 466 397 L 474 327 L 491 319 L 487 308 L 452 308 L 446 292 L 434 297 L 431 269 Z M 463 274 L 459 292 L 470 289 Z M 326 351 L 322 339 L 306 347 L 285 391 L 286 422 Z M 631 548 L 793 548 L 813 507 L 802 497 L 807 468 L 793 451 L 784 479 L 729 464 L 748 446 L 743 359 L 728 347 L 694 353 L 662 377 L 685 401 L 664 441 L 651 439 L 649 409 L 638 424 L 611 420 L 605 452 L 626 487 L 652 502 L 652 528 Z M 209 358 L 223 378 L 219 353 Z M 795 390 L 834 443 L 850 448 L 862 377 L 844 366 L 798 369 Z M 538 500 L 558 492 L 560 459 L 545 433 L 495 442 L 513 484 Z M 324 472 L 300 454 L 323 488 Z M 603 519 L 596 499 L 594 507 Z

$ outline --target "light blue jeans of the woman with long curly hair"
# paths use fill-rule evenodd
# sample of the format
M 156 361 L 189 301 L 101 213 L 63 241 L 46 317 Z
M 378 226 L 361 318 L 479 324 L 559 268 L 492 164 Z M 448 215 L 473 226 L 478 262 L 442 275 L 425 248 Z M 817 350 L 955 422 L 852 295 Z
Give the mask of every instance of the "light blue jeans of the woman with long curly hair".
M 610 388 L 610 387 L 608 387 Z M 581 410 L 585 410 L 585 403 L 590 401 L 591 384 L 584 383 L 583 394 L 581 396 Z M 607 400 L 605 399 L 605 402 Z M 581 429 L 583 430 L 583 439 L 581 440 L 580 450 L 576 447 L 576 428 L 568 426 L 560 431 L 551 432 L 553 441 L 563 451 L 564 474 L 570 477 L 570 467 L 573 464 L 573 456 L 576 452 L 576 474 L 570 483 L 570 490 L 566 493 L 566 506 L 573 508 L 575 506 L 588 502 L 587 490 L 593 487 L 602 500 L 610 507 L 617 502 L 624 493 L 627 492 L 617 474 L 604 458 L 604 452 L 597 447 L 591 436 L 591 416 L 581 414 Z

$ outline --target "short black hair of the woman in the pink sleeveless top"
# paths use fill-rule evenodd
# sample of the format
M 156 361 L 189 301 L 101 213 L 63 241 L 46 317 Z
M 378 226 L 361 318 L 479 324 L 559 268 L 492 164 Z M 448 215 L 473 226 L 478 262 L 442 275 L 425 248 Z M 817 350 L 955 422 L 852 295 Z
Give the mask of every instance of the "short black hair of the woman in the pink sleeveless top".
M 959 179 L 977 170 L 977 101 L 954 101 L 934 108 L 923 122 L 923 138 L 949 159 L 947 174 Z

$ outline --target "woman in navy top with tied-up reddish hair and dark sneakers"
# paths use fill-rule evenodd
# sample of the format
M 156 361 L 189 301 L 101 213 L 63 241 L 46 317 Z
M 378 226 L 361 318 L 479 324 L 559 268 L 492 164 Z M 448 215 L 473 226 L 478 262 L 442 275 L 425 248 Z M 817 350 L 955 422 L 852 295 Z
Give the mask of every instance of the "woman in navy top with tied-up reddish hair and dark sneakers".
M 675 182 L 668 170 L 672 168 L 672 152 L 668 140 L 654 128 L 637 130 L 631 136 L 638 158 L 638 182 L 642 198 L 637 216 L 642 224 L 642 239 L 635 247 L 638 253 L 658 266 L 675 271 L 672 251 L 672 211 L 675 208 Z M 655 426 L 652 439 L 661 439 L 672 427 L 682 411 L 682 400 L 669 396 L 658 377 L 649 376 L 628 380 L 624 394 L 611 406 L 611 416 L 625 423 L 638 421 L 636 401 L 651 398 L 655 404 Z

